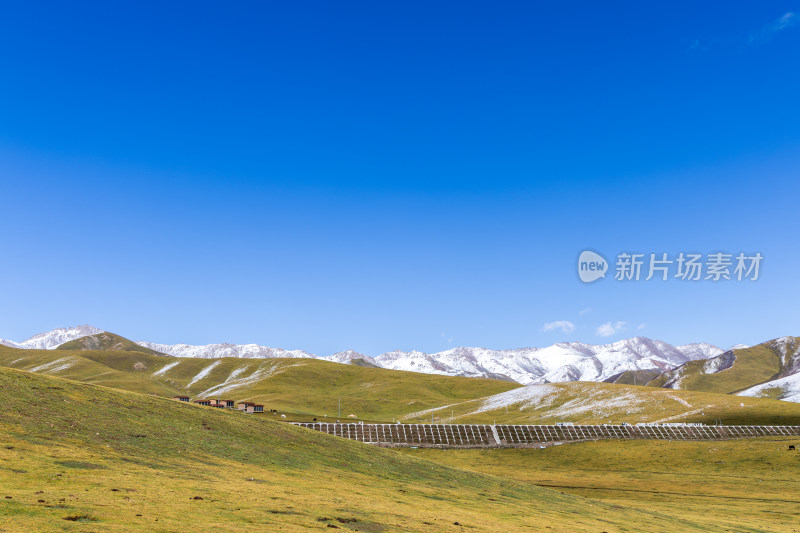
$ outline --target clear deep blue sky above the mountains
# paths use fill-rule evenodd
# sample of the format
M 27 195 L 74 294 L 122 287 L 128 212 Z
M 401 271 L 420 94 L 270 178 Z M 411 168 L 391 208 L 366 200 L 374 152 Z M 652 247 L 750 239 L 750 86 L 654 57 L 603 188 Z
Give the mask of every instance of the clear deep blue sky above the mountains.
M 1 338 L 800 334 L 796 1 L 7 2 L 0 50 Z M 586 248 L 764 261 L 583 284 Z

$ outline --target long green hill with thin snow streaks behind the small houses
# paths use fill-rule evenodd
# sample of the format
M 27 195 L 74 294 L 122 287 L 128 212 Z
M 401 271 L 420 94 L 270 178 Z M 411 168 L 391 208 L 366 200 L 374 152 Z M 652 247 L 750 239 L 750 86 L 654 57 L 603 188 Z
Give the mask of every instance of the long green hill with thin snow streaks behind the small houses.
M 297 420 L 342 417 L 391 421 L 403 414 L 520 385 L 491 379 L 402 372 L 315 359 L 194 359 L 135 351 L 19 350 L 0 347 L 0 366 L 124 390 L 249 400 Z

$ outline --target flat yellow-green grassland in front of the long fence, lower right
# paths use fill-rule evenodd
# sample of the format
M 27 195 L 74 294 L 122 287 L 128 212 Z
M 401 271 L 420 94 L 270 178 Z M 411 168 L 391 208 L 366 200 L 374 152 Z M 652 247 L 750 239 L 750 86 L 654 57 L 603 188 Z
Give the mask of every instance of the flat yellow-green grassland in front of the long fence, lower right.
M 545 449 L 405 449 L 621 507 L 657 509 L 712 531 L 800 531 L 800 438 L 597 441 Z M 643 524 L 632 524 L 638 527 Z M 664 524 L 663 531 L 672 531 Z

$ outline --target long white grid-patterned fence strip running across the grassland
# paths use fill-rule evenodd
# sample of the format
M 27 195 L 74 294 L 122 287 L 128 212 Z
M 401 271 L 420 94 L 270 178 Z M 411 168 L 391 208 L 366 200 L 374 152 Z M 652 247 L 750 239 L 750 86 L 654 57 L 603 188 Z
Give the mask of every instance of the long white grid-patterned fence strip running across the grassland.
M 328 424 L 295 425 L 378 446 L 450 448 L 531 447 L 600 439 L 727 440 L 800 436 L 800 426 L 565 426 L 471 424 Z

